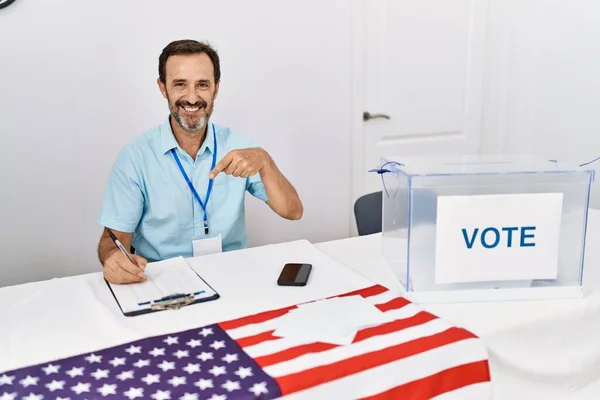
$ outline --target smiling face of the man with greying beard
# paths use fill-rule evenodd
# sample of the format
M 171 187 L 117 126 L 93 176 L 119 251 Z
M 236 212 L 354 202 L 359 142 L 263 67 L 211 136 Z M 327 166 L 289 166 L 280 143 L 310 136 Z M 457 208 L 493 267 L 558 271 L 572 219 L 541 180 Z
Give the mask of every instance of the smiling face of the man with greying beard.
M 219 91 L 210 58 L 204 53 L 169 57 L 165 81 L 158 85 L 175 121 L 187 132 L 202 130 Z

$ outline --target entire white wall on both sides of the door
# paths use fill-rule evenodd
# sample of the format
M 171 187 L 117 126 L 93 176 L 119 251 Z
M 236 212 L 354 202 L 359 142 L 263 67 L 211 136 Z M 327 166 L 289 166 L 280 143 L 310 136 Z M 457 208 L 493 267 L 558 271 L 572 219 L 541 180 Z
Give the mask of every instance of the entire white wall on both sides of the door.
M 1 10 L 0 286 L 99 270 L 107 174 L 167 115 L 157 58 L 185 37 L 221 54 L 217 121 L 263 144 L 304 201 L 303 220 L 288 222 L 249 198 L 250 245 L 347 236 L 353 61 L 365 61 L 352 53 L 351 10 L 347 0 L 17 0 Z M 600 156 L 600 3 L 490 0 L 489 13 L 482 151 Z

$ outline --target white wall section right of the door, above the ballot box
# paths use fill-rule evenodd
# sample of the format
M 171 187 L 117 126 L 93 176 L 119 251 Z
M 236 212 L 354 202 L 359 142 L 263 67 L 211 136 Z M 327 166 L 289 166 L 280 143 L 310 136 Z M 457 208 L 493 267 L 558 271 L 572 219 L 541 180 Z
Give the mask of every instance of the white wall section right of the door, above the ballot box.
M 485 152 L 600 157 L 600 2 L 493 0 Z M 600 161 L 591 206 L 600 208 Z

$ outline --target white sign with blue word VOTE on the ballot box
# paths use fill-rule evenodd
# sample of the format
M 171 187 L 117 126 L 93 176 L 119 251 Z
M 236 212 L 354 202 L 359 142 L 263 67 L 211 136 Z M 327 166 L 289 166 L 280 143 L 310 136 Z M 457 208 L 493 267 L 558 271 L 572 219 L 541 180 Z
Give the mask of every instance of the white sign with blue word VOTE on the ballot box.
M 556 279 L 562 193 L 440 196 L 438 284 Z

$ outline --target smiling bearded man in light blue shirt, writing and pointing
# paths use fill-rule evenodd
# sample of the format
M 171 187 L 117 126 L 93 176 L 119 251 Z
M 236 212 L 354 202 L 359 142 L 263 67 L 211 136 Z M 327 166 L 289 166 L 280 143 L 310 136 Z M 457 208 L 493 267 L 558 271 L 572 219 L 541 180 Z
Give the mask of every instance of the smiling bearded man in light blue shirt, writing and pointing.
M 149 261 L 246 247 L 246 191 L 283 218 L 303 212 L 265 150 L 211 121 L 221 69 L 210 45 L 172 42 L 158 70 L 170 115 L 121 150 L 98 219 L 98 257 L 111 283 L 144 281 Z

